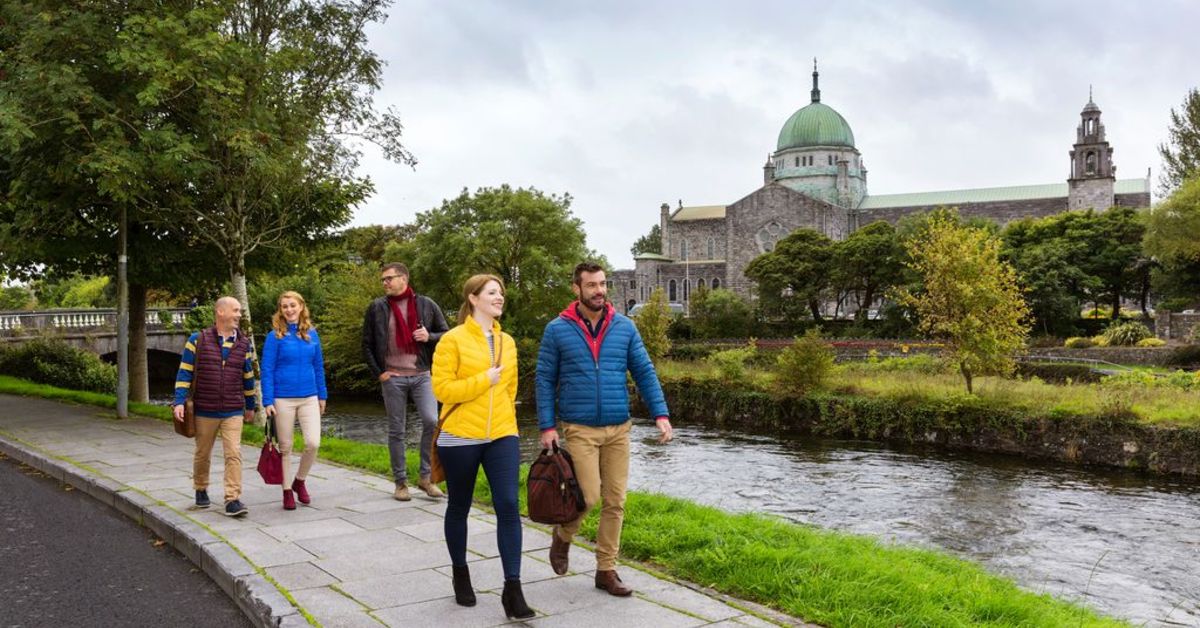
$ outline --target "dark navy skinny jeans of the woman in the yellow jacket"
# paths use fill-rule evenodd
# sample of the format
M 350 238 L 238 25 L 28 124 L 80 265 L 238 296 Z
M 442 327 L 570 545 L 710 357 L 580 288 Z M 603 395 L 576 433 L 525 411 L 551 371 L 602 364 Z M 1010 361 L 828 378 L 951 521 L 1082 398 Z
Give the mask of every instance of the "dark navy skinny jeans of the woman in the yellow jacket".
M 484 467 L 492 488 L 496 509 L 496 545 L 500 550 L 505 580 L 521 579 L 521 514 L 517 510 L 517 468 L 521 449 L 516 436 L 505 436 L 486 444 L 438 447 L 438 460 L 446 472 L 445 536 L 450 562 L 467 566 L 467 515 L 475 495 L 475 477 Z

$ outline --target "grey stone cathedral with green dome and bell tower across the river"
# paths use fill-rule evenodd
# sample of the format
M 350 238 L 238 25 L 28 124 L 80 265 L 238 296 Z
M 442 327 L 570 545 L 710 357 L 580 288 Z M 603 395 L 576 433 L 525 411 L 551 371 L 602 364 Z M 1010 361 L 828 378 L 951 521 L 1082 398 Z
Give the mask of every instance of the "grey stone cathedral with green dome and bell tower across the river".
M 763 166 L 762 187 L 728 205 L 662 204 L 662 252 L 638 255 L 632 270 L 612 273 L 608 295 L 620 311 L 643 303 L 658 287 L 670 303 L 684 306 L 698 287 L 728 288 L 749 298 L 754 282 L 743 274 L 746 265 L 799 228 L 842 240 L 868 223 L 895 223 L 941 207 L 1000 225 L 1072 209 L 1150 207 L 1148 171 L 1141 179 L 1116 178 L 1112 146 L 1091 95 L 1080 113 L 1064 183 L 869 195 L 854 133 L 836 109 L 821 102 L 817 78 L 814 67 L 812 101 L 784 122 L 775 151 Z

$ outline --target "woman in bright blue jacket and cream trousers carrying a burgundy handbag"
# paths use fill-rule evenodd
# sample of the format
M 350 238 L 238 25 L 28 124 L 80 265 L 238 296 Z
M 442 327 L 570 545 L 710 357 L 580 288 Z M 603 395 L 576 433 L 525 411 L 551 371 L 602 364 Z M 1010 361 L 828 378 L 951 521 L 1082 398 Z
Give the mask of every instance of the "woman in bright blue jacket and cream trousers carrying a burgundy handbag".
M 320 337 L 308 318 L 308 306 L 296 292 L 280 294 L 271 317 L 274 333 L 263 343 L 263 407 L 275 418 L 275 431 L 283 454 L 283 509 L 295 510 L 296 500 L 310 503 L 305 478 L 320 448 L 320 415 L 325 413 L 325 359 Z M 292 474 L 295 424 L 304 433 L 300 468 Z

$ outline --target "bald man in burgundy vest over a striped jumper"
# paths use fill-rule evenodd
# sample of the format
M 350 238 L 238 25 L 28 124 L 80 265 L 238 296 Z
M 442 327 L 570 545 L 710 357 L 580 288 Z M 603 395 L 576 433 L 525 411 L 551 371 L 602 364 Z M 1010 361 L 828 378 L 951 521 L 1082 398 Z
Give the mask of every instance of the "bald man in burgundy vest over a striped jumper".
M 196 407 L 196 455 L 192 482 L 196 507 L 209 507 L 209 465 L 212 443 L 221 435 L 224 451 L 224 514 L 242 516 L 241 426 L 254 417 L 254 352 L 238 330 L 241 304 L 233 297 L 217 299 L 216 324 L 192 334 L 175 376 L 175 420 L 184 420 L 188 390 Z

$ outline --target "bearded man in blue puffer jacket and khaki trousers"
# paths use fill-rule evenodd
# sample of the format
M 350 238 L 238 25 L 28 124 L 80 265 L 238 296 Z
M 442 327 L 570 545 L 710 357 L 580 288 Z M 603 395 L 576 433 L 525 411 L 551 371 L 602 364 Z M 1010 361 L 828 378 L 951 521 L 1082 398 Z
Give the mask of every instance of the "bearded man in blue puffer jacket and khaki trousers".
M 575 476 L 588 508 L 604 503 L 596 531 L 596 588 L 613 596 L 634 590 L 617 575 L 620 526 L 625 519 L 625 485 L 629 482 L 629 389 L 625 373 L 634 382 L 661 432 L 659 442 L 671 441 L 671 420 L 662 397 L 659 376 L 642 336 L 629 318 L 617 313 L 607 300 L 604 268 L 584 262 L 575 267 L 571 289 L 578 300 L 548 324 L 538 353 L 538 426 L 541 445 L 558 443 L 557 418 L 575 460 Z M 571 537 L 587 515 L 554 526 L 550 564 L 565 574 Z

